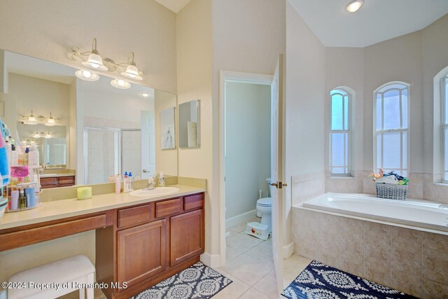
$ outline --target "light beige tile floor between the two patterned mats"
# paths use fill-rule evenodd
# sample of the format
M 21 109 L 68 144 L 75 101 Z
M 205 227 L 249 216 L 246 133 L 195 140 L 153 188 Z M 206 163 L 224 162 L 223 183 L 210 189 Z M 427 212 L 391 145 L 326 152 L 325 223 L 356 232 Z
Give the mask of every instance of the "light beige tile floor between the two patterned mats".
M 272 239 L 262 241 L 244 233 L 246 223 L 253 221 L 260 222 L 260 218 L 251 218 L 229 228 L 226 265 L 215 270 L 233 282 L 214 299 L 280 298 L 272 261 Z M 284 260 L 283 287 L 288 286 L 309 262 L 311 260 L 296 255 Z

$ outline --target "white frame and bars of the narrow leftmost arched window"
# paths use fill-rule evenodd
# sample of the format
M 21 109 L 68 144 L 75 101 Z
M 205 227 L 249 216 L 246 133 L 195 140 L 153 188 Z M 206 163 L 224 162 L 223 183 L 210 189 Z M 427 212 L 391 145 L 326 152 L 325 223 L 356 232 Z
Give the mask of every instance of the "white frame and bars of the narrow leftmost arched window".
M 331 94 L 333 91 L 337 90 L 337 95 L 342 96 L 342 130 L 332 130 L 332 97 L 335 94 Z M 339 91 L 345 92 L 345 94 L 340 93 Z M 347 88 L 344 87 L 337 87 L 332 88 L 330 90 L 330 130 L 329 130 L 329 169 L 330 169 L 330 176 L 351 176 L 351 109 L 352 109 L 352 95 L 351 91 L 349 91 Z M 344 97 L 347 97 L 347 109 L 344 109 Z M 345 116 L 345 110 L 348 113 L 347 116 L 347 129 L 344 130 L 344 116 Z M 332 134 L 334 133 L 343 133 L 344 134 L 344 147 L 347 146 L 347 151 L 345 151 L 344 148 L 344 165 L 332 165 Z M 345 140 L 345 134 L 347 140 Z M 347 169 L 347 172 L 343 174 L 334 174 L 332 173 L 333 168 L 344 168 Z

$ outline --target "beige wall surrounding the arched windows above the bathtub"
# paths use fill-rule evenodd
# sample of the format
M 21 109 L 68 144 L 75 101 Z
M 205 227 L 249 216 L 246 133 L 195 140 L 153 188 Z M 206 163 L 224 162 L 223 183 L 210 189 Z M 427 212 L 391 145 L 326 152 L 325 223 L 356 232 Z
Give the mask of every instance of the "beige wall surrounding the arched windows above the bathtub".
M 437 145 L 433 144 L 433 78 L 448 66 L 448 15 L 425 29 L 366 48 L 326 48 L 325 54 L 325 171 L 328 171 L 329 92 L 339 85 L 352 88 L 355 100 L 355 168 L 353 179 L 327 176 L 326 190 L 374 193 L 367 176 L 373 167 L 373 92 L 390 81 L 410 84 L 409 92 L 409 197 L 448 202 L 447 186 L 440 181 Z M 434 159 L 435 158 L 435 159 Z M 433 166 L 435 165 L 435 167 Z M 433 171 L 434 169 L 434 171 Z

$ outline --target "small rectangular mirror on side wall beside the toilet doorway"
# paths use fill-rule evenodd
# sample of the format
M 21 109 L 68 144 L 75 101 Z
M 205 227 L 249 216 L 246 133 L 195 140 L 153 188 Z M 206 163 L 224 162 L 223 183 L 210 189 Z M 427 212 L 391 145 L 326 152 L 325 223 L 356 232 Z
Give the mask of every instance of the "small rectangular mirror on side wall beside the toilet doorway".
M 179 148 L 200 146 L 200 100 L 179 104 Z

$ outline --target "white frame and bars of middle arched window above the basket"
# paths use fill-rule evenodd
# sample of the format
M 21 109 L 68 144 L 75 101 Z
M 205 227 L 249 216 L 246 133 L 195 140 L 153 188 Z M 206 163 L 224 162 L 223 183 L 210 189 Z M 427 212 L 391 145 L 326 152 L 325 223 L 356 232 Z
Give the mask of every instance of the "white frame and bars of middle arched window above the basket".
M 400 85 L 405 85 L 407 88 L 407 129 L 393 129 L 393 130 L 377 130 L 377 93 L 379 92 L 379 90 L 385 88 L 388 85 L 393 85 L 393 84 L 400 84 Z M 384 133 L 388 133 L 388 132 L 407 132 L 407 154 L 406 154 L 406 168 L 400 168 L 400 169 L 392 169 L 392 170 L 405 170 L 407 172 L 407 176 L 409 176 L 410 173 L 410 165 L 409 165 L 409 161 L 410 161 L 410 131 L 411 131 L 411 116 L 410 116 L 410 100 L 411 99 L 411 90 L 410 90 L 410 85 L 408 83 L 402 82 L 402 81 L 391 81 L 388 83 L 385 83 L 381 86 L 379 86 L 379 88 L 377 88 L 376 90 L 374 90 L 373 92 L 373 169 L 376 170 L 377 169 L 377 148 L 378 148 L 378 144 L 377 144 L 377 135 L 381 134 L 384 136 Z M 392 89 L 398 89 L 398 88 L 391 88 Z M 381 92 L 384 93 L 384 92 Z M 383 99 L 383 97 L 381 97 L 381 99 Z M 401 108 L 401 97 L 400 97 L 400 108 Z M 384 127 L 384 104 L 381 105 L 381 127 Z M 402 114 L 401 114 L 401 109 L 400 109 L 400 125 L 402 125 Z M 381 137 L 383 138 L 383 137 Z M 400 146 L 402 146 L 402 134 L 400 134 Z M 381 147 L 381 151 L 383 151 L 383 147 Z M 383 153 L 381 153 L 381 159 L 384 159 L 384 155 Z M 400 153 L 400 167 L 402 167 L 402 153 Z M 383 161 L 381 161 L 381 167 L 383 166 Z M 387 168 L 387 169 L 391 169 L 391 168 Z

